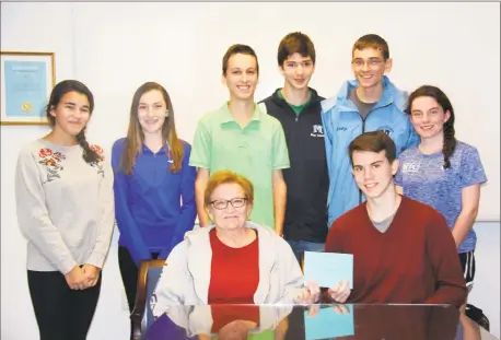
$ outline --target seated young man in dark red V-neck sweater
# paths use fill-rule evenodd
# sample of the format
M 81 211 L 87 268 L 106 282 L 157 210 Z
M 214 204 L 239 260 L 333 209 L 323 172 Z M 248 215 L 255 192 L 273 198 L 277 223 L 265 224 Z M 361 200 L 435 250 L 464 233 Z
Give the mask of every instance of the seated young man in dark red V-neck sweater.
M 328 290 L 330 298 L 459 307 L 466 283 L 454 238 L 436 210 L 396 192 L 393 140 L 383 131 L 366 132 L 348 150 L 366 201 L 336 220 L 328 233 L 325 250 L 353 254 L 354 263 L 353 290 L 338 284 Z

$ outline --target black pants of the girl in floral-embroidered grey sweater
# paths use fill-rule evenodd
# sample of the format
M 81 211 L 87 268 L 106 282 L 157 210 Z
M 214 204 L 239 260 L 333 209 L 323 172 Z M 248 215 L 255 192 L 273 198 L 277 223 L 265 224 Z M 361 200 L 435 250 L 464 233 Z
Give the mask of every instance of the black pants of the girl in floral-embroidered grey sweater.
M 27 271 L 40 340 L 85 340 L 97 306 L 103 273 L 93 288 L 72 290 L 59 271 Z

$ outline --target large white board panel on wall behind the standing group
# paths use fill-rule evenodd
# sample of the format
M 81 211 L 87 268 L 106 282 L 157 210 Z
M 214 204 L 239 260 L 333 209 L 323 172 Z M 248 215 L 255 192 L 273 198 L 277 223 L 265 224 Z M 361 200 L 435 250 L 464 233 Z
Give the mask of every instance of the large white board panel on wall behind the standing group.
M 148 80 L 165 84 L 179 134 L 190 141 L 196 120 L 228 98 L 220 74 L 231 44 L 255 48 L 260 99 L 282 83 L 276 61 L 281 37 L 304 31 L 318 55 L 312 85 L 331 96 L 352 77 L 354 40 L 378 33 L 389 44 L 398 86 L 433 83 L 451 97 L 457 137 L 479 149 L 489 178 L 479 216 L 499 220 L 499 3 L 129 2 L 75 3 L 73 11 L 74 77 L 96 93 L 91 137 L 105 146 L 125 133 L 132 94 Z M 306 11 L 315 15 L 305 17 Z M 100 137 L 104 127 L 108 133 Z

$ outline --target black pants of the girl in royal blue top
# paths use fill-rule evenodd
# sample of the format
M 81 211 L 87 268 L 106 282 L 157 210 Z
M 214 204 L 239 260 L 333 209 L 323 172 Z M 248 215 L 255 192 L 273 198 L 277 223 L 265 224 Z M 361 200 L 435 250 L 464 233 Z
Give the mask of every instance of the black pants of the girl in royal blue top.
M 158 258 L 159 254 L 153 253 L 152 258 Z M 139 269 L 133 261 L 132 256 L 126 247 L 118 246 L 118 266 L 120 268 L 121 281 L 127 295 L 127 304 L 129 305 L 129 312 L 132 313 L 136 304 L 136 292 L 138 288 L 138 274 Z M 132 320 L 130 320 L 130 331 L 132 335 Z

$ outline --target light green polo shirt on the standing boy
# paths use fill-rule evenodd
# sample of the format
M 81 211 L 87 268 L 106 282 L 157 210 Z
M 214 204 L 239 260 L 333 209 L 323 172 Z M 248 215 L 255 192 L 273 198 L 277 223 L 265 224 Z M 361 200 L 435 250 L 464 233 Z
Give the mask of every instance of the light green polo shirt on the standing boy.
M 245 128 L 241 128 L 228 102 L 203 116 L 195 131 L 189 165 L 237 173 L 253 183 L 254 208 L 250 220 L 275 227 L 272 171 L 289 168 L 289 153 L 282 126 L 255 105 Z

